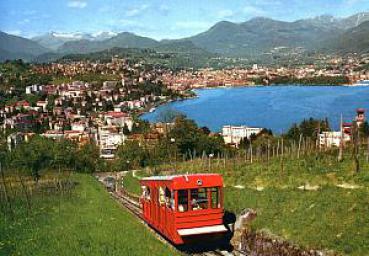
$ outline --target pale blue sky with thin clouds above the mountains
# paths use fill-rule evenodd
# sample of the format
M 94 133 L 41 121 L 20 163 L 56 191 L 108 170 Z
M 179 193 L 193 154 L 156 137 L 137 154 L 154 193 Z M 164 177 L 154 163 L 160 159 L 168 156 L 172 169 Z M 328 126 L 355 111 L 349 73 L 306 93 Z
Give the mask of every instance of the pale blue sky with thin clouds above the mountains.
M 50 31 L 128 31 L 173 39 L 203 32 L 222 20 L 264 16 L 294 21 L 363 11 L 369 11 L 369 0 L 0 0 L 0 30 L 25 37 Z

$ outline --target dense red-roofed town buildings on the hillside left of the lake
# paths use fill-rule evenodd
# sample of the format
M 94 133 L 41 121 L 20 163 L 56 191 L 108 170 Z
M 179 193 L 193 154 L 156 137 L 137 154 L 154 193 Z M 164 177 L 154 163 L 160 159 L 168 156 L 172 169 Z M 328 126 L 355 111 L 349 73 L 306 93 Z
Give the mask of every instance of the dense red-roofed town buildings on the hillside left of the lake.
M 118 147 L 134 132 L 133 115 L 171 97 L 168 91 L 166 95 L 161 93 L 165 86 L 159 83 L 155 72 L 125 60 L 114 59 L 107 64 L 51 64 L 36 69 L 41 74 L 63 72 L 69 76 L 100 72 L 117 76 L 116 80 L 102 81 L 101 85 L 72 81 L 25 87 L 26 95 L 39 100 L 16 101 L 0 108 L 1 127 L 16 131 L 8 137 L 9 147 L 36 132 L 46 138 L 68 139 L 80 145 L 93 142 L 99 147 L 100 157 L 112 159 Z M 142 86 L 145 83 L 153 89 L 145 89 Z

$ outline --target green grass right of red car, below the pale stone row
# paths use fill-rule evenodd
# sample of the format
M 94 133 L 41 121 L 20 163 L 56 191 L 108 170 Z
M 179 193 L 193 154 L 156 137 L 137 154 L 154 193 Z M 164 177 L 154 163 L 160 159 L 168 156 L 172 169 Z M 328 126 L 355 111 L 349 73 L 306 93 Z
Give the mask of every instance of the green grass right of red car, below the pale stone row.
M 257 210 L 256 230 L 267 229 L 285 239 L 319 249 L 350 255 L 368 255 L 368 190 L 325 187 L 297 189 L 226 188 L 225 207 Z

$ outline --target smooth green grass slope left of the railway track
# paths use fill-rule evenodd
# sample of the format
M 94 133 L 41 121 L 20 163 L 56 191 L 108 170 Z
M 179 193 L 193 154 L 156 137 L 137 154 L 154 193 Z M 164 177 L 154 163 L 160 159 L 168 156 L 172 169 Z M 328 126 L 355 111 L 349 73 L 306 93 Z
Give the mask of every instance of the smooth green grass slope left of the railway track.
M 1 218 L 0 255 L 176 255 L 93 177 L 72 179 L 71 195 L 34 195 L 30 216 Z

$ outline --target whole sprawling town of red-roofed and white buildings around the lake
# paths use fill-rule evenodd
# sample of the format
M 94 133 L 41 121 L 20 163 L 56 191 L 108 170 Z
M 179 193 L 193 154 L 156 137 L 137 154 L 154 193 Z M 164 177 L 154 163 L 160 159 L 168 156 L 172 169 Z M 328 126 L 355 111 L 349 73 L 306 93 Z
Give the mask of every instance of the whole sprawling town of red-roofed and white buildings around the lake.
M 117 57 L 107 63 L 33 64 L 32 74 L 58 76 L 58 81 L 31 84 L 23 92 L 7 86 L 2 97 L 9 100 L 0 105 L 0 122 L 4 130 L 16 131 L 8 135 L 9 150 L 38 133 L 46 138 L 65 138 L 82 144 L 93 141 L 99 147 L 100 157 L 112 159 L 126 140 L 160 137 L 163 124 L 152 124 L 151 132 L 146 135 L 135 134 L 142 126 L 139 115 L 155 111 L 158 105 L 168 101 L 193 97 L 192 89 L 273 85 L 278 81 L 355 86 L 369 80 L 369 71 L 361 69 L 368 63 L 369 56 L 362 55 L 326 60 L 325 68 L 315 65 L 270 68 L 254 64 L 251 68 L 172 71 Z M 73 81 L 77 76 L 86 76 L 90 81 Z M 101 83 L 93 81 L 96 77 Z M 104 81 L 107 77 L 114 80 Z M 9 84 L 5 74 L 1 74 L 1 79 Z M 17 95 L 23 96 L 14 97 Z M 225 142 L 233 144 L 236 138 L 237 146 L 240 139 L 262 130 L 249 129 L 224 127 Z M 244 135 L 234 135 L 236 130 Z M 339 145 L 337 138 L 341 135 L 324 133 L 322 136 L 321 144 Z

